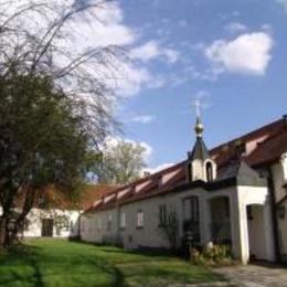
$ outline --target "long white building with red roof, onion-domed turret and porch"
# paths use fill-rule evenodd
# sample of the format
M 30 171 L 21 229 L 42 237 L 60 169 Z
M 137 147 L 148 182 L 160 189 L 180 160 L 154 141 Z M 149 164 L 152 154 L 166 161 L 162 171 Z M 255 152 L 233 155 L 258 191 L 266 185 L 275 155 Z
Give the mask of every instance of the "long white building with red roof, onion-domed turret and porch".
M 81 216 L 87 242 L 170 247 L 161 223 L 176 214 L 176 244 L 230 244 L 243 263 L 287 259 L 287 118 L 208 150 L 203 126 L 188 159 L 96 200 Z

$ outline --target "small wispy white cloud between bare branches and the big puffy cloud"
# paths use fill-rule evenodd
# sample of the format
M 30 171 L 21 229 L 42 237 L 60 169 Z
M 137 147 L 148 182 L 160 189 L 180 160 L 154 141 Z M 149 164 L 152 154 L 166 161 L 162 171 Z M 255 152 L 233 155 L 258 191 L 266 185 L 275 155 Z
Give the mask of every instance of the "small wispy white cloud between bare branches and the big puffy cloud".
M 131 59 L 138 59 L 144 62 L 162 57 L 169 63 L 176 63 L 179 60 L 179 52 L 172 49 L 162 47 L 157 41 L 149 41 L 146 44 L 135 47 L 130 51 Z

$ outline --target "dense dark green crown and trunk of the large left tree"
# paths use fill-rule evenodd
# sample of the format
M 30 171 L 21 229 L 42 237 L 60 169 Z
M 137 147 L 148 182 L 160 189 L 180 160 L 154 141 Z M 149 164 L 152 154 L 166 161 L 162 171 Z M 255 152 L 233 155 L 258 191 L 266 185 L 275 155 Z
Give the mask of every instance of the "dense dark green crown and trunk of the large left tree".
M 17 238 L 47 185 L 53 184 L 68 199 L 76 198 L 92 140 L 84 108 L 47 76 L 14 73 L 0 77 L 0 205 L 6 217 L 0 245 L 13 208 L 21 208 L 22 213 L 7 233 L 7 243 Z

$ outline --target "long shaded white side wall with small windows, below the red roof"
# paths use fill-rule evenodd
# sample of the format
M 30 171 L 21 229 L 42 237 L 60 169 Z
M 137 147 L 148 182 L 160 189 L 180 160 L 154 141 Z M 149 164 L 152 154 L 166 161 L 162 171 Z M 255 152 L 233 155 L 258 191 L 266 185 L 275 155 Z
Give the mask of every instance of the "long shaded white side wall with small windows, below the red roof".
M 87 242 L 103 243 L 107 238 L 120 238 L 126 248 L 169 247 L 169 242 L 159 228 L 159 205 L 166 204 L 168 210 L 177 212 L 179 231 L 178 245 L 183 235 L 182 201 L 189 196 L 198 195 L 200 203 L 201 242 L 206 244 L 211 238 L 210 232 L 210 204 L 209 200 L 214 196 L 236 196 L 235 188 L 227 188 L 216 192 L 209 192 L 201 188 L 183 192 L 155 196 L 134 203 L 128 203 L 117 209 L 99 211 L 83 215 L 81 219 L 81 237 Z M 231 200 L 230 200 L 231 201 Z M 144 228 L 137 228 L 137 211 L 144 211 Z M 126 213 L 126 228 L 119 230 L 119 214 Z M 108 215 L 113 215 L 113 228 L 107 231 Z M 97 227 L 97 221 L 102 221 L 102 228 Z

